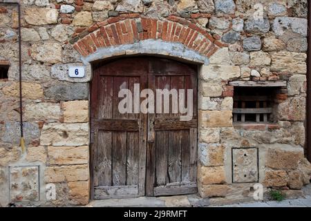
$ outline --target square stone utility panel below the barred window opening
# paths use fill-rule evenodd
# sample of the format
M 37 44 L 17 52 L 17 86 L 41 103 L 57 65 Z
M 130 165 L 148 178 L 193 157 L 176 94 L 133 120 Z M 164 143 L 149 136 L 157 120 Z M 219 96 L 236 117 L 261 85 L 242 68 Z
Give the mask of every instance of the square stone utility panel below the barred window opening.
M 232 182 L 258 182 L 258 148 L 232 148 Z

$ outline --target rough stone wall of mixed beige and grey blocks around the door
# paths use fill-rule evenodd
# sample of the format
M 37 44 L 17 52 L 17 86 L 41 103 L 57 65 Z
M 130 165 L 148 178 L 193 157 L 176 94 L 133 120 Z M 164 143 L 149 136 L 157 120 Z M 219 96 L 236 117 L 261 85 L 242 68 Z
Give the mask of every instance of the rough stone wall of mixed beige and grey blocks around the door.
M 311 173 L 303 157 L 306 5 L 306 0 L 21 1 L 26 153 L 19 147 L 17 8 L 1 5 L 0 61 L 10 61 L 8 79 L 0 81 L 1 206 L 88 203 L 88 62 L 139 53 L 178 57 L 200 67 L 202 197 L 220 203 L 248 200 L 256 182 L 301 189 Z M 187 36 L 180 34 L 187 30 Z M 86 77 L 69 78 L 70 65 L 84 65 Z M 275 124 L 233 124 L 229 81 L 284 80 Z M 37 177 L 39 184 L 33 182 Z M 46 184 L 55 184 L 56 200 L 47 200 Z

